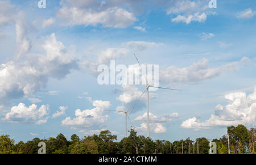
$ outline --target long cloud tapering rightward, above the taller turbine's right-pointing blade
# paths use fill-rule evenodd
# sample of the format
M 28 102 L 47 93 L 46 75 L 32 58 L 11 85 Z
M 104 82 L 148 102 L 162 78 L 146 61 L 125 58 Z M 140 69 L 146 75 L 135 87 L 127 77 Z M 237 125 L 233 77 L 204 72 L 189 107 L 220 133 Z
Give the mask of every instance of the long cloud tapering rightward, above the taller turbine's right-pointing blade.
M 195 83 L 205 79 L 216 77 L 227 70 L 236 70 L 239 62 L 231 62 L 216 68 L 210 68 L 208 60 L 203 58 L 191 66 L 177 68 L 167 67 L 159 73 L 159 81 L 167 84 L 173 83 Z

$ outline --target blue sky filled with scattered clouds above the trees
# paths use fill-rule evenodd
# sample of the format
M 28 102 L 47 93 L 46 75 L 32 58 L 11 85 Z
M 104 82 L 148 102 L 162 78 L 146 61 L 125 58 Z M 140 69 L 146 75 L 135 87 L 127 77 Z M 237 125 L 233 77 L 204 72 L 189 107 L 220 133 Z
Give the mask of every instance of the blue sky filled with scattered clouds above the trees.
M 150 93 L 153 139 L 254 126 L 255 1 L 46 2 L 0 1 L 0 134 L 17 142 L 109 129 L 121 139 L 125 117 L 106 110 L 137 102 L 130 117 L 146 136 L 144 86 L 100 85 L 95 70 L 135 65 L 134 53 L 159 65 L 160 86 L 182 90 Z

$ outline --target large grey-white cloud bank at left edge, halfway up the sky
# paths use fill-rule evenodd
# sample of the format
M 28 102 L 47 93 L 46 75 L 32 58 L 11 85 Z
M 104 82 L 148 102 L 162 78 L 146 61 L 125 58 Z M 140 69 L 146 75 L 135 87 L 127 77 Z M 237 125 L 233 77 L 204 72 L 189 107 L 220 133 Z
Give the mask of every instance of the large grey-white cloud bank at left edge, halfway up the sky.
M 46 37 L 42 48 L 46 54 L 27 54 L 22 62 L 0 65 L 0 103 L 27 97 L 45 87 L 49 78 L 61 79 L 76 69 L 75 55 L 56 40 L 54 33 Z

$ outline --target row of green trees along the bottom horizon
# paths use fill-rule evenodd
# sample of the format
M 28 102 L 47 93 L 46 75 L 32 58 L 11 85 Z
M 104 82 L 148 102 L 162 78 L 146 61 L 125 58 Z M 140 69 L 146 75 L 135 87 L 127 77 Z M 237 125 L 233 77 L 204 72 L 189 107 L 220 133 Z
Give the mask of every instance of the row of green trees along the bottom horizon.
M 166 141 L 140 136 L 131 129 L 129 137 L 117 142 L 117 136 L 109 130 L 104 130 L 100 134 L 85 136 L 80 139 L 73 134 L 71 140 L 59 134 L 56 138 L 48 139 L 34 138 L 26 143 L 20 141 L 15 144 L 14 139 L 9 135 L 0 136 L 0 154 L 37 154 L 39 142 L 46 143 L 47 154 L 207 154 L 209 140 L 205 137 L 192 141 L 190 138 L 180 141 Z M 212 139 L 217 147 L 217 154 L 230 153 L 255 153 L 256 129 L 247 129 L 244 125 L 229 126 L 228 135 L 220 139 Z M 229 146 L 228 146 L 229 143 Z

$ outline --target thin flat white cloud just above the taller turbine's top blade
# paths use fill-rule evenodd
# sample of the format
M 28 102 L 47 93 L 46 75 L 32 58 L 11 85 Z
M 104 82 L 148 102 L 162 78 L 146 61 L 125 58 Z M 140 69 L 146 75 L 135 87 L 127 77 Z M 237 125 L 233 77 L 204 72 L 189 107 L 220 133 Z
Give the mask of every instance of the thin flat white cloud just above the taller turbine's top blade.
M 127 43 L 123 43 L 122 45 L 128 46 L 130 48 L 135 48 L 137 50 L 145 50 L 147 48 L 152 48 L 160 44 L 157 44 L 154 42 L 146 42 L 146 41 L 129 41 Z

